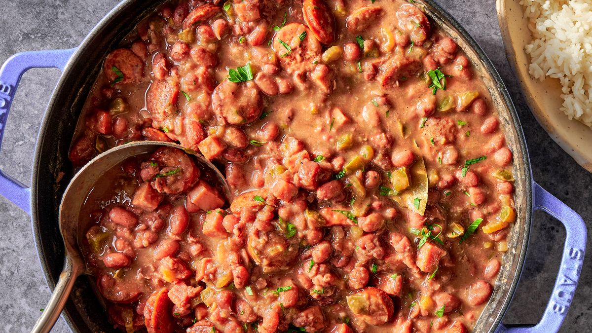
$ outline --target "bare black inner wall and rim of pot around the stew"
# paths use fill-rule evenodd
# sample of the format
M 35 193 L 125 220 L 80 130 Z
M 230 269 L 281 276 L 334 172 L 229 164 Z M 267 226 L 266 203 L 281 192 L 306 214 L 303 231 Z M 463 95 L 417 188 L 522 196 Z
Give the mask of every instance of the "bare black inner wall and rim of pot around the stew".
M 50 288 L 62 271 L 63 241 L 58 228 L 58 209 L 63 191 L 73 176 L 68 160 L 70 141 L 86 97 L 98 75 L 102 60 L 135 25 L 152 14 L 163 0 L 127 0 L 107 14 L 85 39 L 60 79 L 41 124 L 34 161 L 32 193 L 33 229 L 37 250 Z M 417 1 L 420 2 L 420 1 Z M 499 75 L 477 43 L 432 0 L 421 1 L 437 24 L 456 36 L 459 45 L 471 57 L 478 71 L 490 82 L 494 104 L 504 123 L 507 140 L 514 152 L 516 204 L 519 217 L 504 257 L 504 268 L 496 291 L 477 323 L 476 331 L 493 331 L 501 321 L 516 287 L 526 254 L 532 209 L 530 163 L 516 111 Z M 63 173 L 62 173 L 63 172 Z M 501 282 L 500 282 L 501 281 Z M 112 325 L 92 289 L 91 277 L 80 277 L 65 308 L 65 319 L 73 331 L 111 332 Z

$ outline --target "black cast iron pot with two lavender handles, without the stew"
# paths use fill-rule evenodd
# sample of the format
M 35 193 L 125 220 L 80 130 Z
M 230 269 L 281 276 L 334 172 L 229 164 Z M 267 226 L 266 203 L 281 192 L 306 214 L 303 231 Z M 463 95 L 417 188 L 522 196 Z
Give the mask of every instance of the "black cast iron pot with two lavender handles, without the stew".
M 162 0 L 125 0 L 115 7 L 86 37 L 81 46 L 70 50 L 25 52 L 12 56 L 0 72 L 0 142 L 22 73 L 30 68 L 55 67 L 63 75 L 41 124 L 35 151 L 31 188 L 0 172 L 0 194 L 31 214 L 33 235 L 47 284 L 54 288 L 62 271 L 64 249 L 58 229 L 58 207 L 73 170 L 68 161 L 70 141 L 82 105 L 89 94 L 107 53 L 133 30 L 142 18 L 155 11 Z M 417 5 L 451 34 L 472 60 L 490 89 L 510 149 L 514 153 L 516 209 L 518 216 L 510 233 L 510 248 L 494 293 L 475 326 L 476 332 L 555 332 L 570 307 L 580 277 L 585 253 L 586 230 L 583 220 L 564 203 L 532 180 L 530 161 L 520 121 L 510 96 L 496 69 L 478 44 L 451 15 L 432 0 Z M 63 174 L 61 174 L 63 172 Z M 62 177 L 63 175 L 63 177 Z M 526 256 L 533 210 L 542 209 L 560 220 L 567 230 L 558 277 L 545 313 L 533 327 L 507 328 L 501 324 Z M 112 330 L 101 302 L 91 287 L 91 278 L 80 277 L 63 312 L 75 332 Z

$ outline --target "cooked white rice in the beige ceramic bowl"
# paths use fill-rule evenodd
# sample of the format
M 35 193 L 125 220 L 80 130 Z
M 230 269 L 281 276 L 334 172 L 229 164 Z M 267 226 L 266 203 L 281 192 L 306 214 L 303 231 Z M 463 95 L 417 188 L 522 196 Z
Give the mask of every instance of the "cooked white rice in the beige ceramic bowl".
M 521 0 L 530 20 L 530 75 L 558 78 L 561 111 L 592 127 L 592 1 Z

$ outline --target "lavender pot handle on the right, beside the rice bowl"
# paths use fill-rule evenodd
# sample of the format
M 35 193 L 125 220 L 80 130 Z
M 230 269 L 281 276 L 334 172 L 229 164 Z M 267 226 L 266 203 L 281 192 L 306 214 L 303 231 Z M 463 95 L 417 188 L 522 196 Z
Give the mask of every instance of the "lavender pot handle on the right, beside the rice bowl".
M 578 286 L 586 249 L 586 225 L 584 220 L 561 200 L 547 192 L 539 184 L 534 184 L 535 209 L 544 210 L 565 226 L 565 245 L 561 266 L 555 280 L 555 286 L 543 317 L 535 326 L 506 327 L 501 325 L 497 332 L 510 333 L 547 333 L 558 332 L 567 311 L 570 309 Z

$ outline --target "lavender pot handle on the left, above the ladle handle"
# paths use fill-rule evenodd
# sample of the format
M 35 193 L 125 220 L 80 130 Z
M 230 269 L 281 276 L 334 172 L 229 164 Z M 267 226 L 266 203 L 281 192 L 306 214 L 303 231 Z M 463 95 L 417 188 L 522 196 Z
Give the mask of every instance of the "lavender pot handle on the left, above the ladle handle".
M 62 72 L 76 49 L 46 50 L 17 53 L 0 68 L 0 148 L 18 83 L 22 74 L 31 68 L 59 68 Z M 0 196 L 7 198 L 22 210 L 31 213 L 30 188 L 0 170 Z

